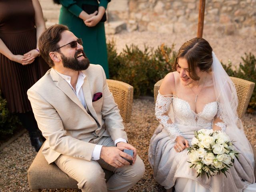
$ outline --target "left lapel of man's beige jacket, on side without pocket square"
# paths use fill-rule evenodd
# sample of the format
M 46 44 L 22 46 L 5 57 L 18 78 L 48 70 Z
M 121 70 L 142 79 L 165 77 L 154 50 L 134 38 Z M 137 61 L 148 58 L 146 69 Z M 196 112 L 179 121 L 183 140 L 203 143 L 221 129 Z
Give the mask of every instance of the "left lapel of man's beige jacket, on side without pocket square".
M 66 82 L 66 80 L 64 80 L 54 69 L 51 69 L 50 74 L 52 76 L 52 80 L 57 82 L 56 86 L 60 88 L 60 90 L 62 90 L 74 103 L 82 108 L 84 112 L 86 112 L 86 109 L 79 101 L 76 94 L 74 93 L 70 85 Z

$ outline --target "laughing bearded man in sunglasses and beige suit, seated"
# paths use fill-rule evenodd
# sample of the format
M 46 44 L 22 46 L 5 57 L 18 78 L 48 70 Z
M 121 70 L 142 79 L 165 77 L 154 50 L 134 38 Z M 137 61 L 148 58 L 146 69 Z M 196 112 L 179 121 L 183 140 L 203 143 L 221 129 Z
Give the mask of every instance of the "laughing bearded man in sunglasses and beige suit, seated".
M 55 162 L 82 192 L 127 191 L 145 168 L 127 143 L 103 68 L 89 63 L 82 40 L 64 25 L 48 28 L 39 49 L 52 68 L 28 90 L 28 98 L 46 138 L 42 152 L 47 162 Z M 107 183 L 102 168 L 114 172 Z

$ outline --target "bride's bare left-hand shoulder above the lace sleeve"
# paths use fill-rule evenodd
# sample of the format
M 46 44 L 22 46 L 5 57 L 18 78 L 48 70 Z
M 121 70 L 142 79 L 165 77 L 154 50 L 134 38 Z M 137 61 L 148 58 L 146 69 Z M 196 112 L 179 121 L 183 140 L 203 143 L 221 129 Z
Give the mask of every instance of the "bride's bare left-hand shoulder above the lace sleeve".
M 176 76 L 175 73 L 176 72 L 170 72 L 164 77 L 159 89 L 161 94 L 172 94 L 174 92 Z

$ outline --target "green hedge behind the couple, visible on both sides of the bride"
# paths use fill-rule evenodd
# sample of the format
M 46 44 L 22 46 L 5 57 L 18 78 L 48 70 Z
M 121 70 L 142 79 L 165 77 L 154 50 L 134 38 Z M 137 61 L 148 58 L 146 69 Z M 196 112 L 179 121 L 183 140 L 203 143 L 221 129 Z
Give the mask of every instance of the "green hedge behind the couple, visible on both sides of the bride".
M 134 87 L 134 97 L 153 96 L 154 84 L 164 78 L 168 72 L 173 71 L 176 52 L 174 45 L 172 47 L 162 44 L 156 50 L 144 46 L 140 50 L 138 46 L 132 44 L 126 46 L 120 54 L 116 52 L 114 40 L 107 43 L 108 47 L 108 64 L 110 79 L 126 82 Z M 242 57 L 238 69 L 232 68 L 232 63 L 223 64 L 224 69 L 229 76 L 234 76 L 256 82 L 256 59 L 251 53 Z M 255 88 L 249 107 L 256 109 Z

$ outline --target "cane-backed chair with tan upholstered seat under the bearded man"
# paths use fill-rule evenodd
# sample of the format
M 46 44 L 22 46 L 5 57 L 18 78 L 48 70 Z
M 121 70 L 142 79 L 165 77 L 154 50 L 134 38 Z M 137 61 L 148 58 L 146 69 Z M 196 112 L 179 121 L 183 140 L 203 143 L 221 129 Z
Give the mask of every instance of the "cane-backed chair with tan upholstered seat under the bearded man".
M 110 92 L 118 105 L 120 114 L 125 123 L 130 122 L 133 101 L 133 87 L 127 83 L 107 80 Z M 105 178 L 108 180 L 113 172 L 103 169 Z M 40 192 L 41 189 L 76 189 L 78 188 L 76 180 L 70 178 L 62 172 L 56 164 L 48 164 L 42 154 L 42 148 L 39 150 L 34 161 L 28 169 L 28 184 L 33 192 Z

